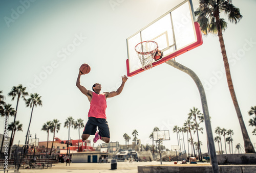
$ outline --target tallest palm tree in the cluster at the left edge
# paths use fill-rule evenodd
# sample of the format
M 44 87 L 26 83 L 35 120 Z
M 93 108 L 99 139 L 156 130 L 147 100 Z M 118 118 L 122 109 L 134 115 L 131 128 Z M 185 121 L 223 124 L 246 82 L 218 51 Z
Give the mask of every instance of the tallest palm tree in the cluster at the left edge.
M 14 98 L 17 96 L 16 112 L 15 112 L 14 120 L 13 120 L 13 123 L 15 124 L 19 98 L 22 97 L 23 100 L 26 102 L 25 96 L 28 96 L 29 94 L 28 94 L 28 92 L 26 92 L 26 87 L 23 87 L 22 84 L 19 84 L 18 86 L 13 86 L 12 90 L 8 93 L 8 95 L 12 97 L 12 101 L 14 101 Z M 12 130 L 12 134 L 11 134 L 10 144 L 13 143 L 12 136 L 13 136 L 13 130 Z

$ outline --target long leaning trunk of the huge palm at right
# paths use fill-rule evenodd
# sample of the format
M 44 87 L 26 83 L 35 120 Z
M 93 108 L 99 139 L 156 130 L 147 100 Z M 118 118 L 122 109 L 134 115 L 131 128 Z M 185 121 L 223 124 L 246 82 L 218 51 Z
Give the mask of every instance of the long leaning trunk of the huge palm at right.
M 229 88 L 229 92 L 230 92 L 230 95 L 231 95 L 231 98 L 232 98 L 232 101 L 233 101 L 234 108 L 236 109 L 236 112 L 237 112 L 239 123 L 240 123 L 240 128 L 241 128 L 243 139 L 244 139 L 245 153 L 255 153 L 255 150 L 253 148 L 250 137 L 249 137 L 248 132 L 247 132 L 246 127 L 245 127 L 245 123 L 244 123 L 244 120 L 243 120 L 243 117 L 242 117 L 240 107 L 238 105 L 238 100 L 237 100 L 236 93 L 234 92 L 234 87 L 233 87 L 233 82 L 232 82 L 232 79 L 231 79 L 229 63 L 228 63 L 228 59 L 227 59 L 226 48 L 225 48 L 224 39 L 223 39 L 223 35 L 222 35 L 222 30 L 221 30 L 221 25 L 220 25 L 219 13 L 216 15 L 216 23 L 217 23 L 218 37 L 219 37 L 220 46 L 221 46 L 221 53 L 222 53 L 224 66 L 225 66 L 225 71 L 226 71 L 228 88 Z

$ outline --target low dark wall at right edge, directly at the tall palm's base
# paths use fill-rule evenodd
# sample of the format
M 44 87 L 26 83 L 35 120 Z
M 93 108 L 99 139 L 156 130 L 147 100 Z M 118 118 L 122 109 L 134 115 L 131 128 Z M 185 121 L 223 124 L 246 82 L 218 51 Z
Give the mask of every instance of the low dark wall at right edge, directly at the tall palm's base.
M 251 165 L 256 164 L 256 154 L 226 154 L 217 155 L 219 165 Z

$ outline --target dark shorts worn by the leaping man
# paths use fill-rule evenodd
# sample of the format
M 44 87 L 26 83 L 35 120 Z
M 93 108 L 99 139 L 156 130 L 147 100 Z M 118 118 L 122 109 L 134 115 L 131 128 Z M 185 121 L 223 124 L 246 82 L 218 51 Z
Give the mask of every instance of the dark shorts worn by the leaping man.
M 86 127 L 84 127 L 83 134 L 94 135 L 99 129 L 99 136 L 110 138 L 110 128 L 108 121 L 104 118 L 88 117 Z

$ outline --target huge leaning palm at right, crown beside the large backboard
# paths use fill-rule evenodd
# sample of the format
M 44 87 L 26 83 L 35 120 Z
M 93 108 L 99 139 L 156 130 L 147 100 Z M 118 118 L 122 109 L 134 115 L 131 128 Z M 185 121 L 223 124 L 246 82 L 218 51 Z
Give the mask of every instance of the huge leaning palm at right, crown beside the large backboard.
M 234 108 L 236 109 L 239 119 L 246 153 L 255 153 L 249 135 L 247 133 L 243 116 L 238 104 L 236 93 L 234 92 L 233 82 L 231 79 L 231 73 L 224 44 L 222 31 L 227 28 L 227 22 L 224 18 L 221 18 L 220 14 L 227 14 L 230 22 L 238 23 L 243 17 L 240 14 L 240 10 L 234 7 L 230 0 L 199 0 L 199 8 L 196 10 L 195 15 L 198 16 L 197 21 L 200 23 L 202 33 L 207 35 L 208 33 L 217 34 L 220 41 L 221 53 L 224 61 L 226 78 L 228 83 L 229 92 L 233 101 Z

